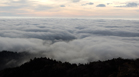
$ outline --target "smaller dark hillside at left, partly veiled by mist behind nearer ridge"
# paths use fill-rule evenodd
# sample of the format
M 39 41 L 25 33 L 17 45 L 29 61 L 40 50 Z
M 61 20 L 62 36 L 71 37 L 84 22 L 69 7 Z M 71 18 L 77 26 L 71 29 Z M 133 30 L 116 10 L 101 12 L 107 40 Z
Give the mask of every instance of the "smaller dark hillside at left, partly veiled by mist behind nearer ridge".
M 35 55 L 27 52 L 12 52 L 12 51 L 0 51 L 0 70 L 15 67 L 23 64 L 26 60 Z

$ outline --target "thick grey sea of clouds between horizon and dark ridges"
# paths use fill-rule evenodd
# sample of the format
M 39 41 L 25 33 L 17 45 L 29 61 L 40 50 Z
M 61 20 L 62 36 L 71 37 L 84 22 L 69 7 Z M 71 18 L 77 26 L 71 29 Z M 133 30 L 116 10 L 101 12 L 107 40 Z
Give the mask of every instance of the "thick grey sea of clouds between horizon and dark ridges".
M 2 50 L 71 63 L 139 58 L 139 20 L 1 18 Z

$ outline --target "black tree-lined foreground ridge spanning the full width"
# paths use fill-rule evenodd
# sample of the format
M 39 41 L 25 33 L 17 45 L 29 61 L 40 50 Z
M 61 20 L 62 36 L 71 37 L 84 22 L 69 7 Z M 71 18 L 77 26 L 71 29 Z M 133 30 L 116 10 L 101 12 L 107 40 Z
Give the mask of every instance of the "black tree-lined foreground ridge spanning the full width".
M 117 58 L 77 65 L 34 58 L 19 67 L 0 71 L 0 77 L 139 77 L 139 59 Z

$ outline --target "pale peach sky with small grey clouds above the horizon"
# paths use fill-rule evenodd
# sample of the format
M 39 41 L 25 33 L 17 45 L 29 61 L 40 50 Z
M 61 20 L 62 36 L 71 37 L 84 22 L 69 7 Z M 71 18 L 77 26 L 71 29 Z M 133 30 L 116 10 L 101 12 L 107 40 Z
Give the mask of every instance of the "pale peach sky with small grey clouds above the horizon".
M 139 18 L 139 0 L 2 0 L 0 16 Z

